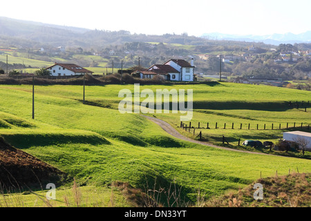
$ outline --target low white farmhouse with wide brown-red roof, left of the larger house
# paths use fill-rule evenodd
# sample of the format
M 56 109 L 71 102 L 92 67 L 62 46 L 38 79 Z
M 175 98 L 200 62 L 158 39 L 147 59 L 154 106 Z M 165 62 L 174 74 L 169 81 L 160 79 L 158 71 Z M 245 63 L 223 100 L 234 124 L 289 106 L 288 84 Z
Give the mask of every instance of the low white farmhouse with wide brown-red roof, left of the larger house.
M 49 70 L 52 76 L 73 76 L 93 74 L 91 70 L 86 70 L 76 64 L 59 64 L 55 63 L 53 66 L 46 68 Z

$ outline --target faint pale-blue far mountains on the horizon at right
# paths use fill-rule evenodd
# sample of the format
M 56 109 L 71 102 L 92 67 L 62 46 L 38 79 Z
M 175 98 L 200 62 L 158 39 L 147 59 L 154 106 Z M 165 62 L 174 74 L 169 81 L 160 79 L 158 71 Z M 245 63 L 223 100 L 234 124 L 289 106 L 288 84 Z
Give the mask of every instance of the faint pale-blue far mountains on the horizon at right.
M 228 41 L 254 41 L 263 42 L 265 44 L 294 44 L 294 43 L 311 43 L 311 31 L 304 32 L 298 35 L 290 32 L 285 34 L 273 35 L 227 35 L 218 32 L 205 33 L 201 37 L 209 40 L 228 40 Z

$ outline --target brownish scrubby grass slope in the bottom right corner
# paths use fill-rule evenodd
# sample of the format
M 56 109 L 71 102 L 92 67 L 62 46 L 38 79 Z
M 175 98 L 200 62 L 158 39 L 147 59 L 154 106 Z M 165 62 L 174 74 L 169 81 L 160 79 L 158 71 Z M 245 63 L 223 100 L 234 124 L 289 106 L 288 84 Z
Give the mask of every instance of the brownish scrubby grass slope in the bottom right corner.
M 263 200 L 254 200 L 254 184 L 263 185 Z M 291 173 L 266 177 L 237 191 L 204 202 L 202 206 L 220 207 L 309 207 L 311 201 L 311 173 Z

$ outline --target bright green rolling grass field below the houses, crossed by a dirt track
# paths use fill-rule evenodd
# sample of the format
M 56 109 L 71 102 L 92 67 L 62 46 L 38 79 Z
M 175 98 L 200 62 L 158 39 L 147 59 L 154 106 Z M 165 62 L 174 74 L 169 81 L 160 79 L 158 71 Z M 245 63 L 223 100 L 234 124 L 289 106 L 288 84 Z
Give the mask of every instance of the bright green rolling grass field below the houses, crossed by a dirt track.
M 310 124 L 310 107 L 305 113 L 284 103 L 306 101 L 307 91 L 229 83 L 140 87 L 194 89 L 193 124 L 202 120 L 211 125 L 216 121 L 220 125 L 241 121 Z M 119 113 L 122 98 L 117 95 L 123 88 L 133 91 L 133 85 L 86 86 L 86 100 L 103 108 L 82 104 L 82 86 L 35 86 L 35 119 L 31 119 L 32 87 L 0 85 L 0 136 L 75 177 L 79 185 L 109 192 L 115 181 L 140 189 L 150 189 L 155 182 L 158 188 L 174 184 L 191 202 L 196 201 L 198 189 L 210 198 L 246 186 L 260 175 L 268 177 L 276 171 L 285 175 L 297 168 L 310 172 L 310 160 L 237 153 L 176 140 L 140 115 Z M 190 136 L 177 127 L 179 114 L 155 115 Z M 246 130 L 206 129 L 204 133 L 224 131 L 248 136 Z M 249 137 L 269 133 L 279 137 L 280 132 L 248 131 Z

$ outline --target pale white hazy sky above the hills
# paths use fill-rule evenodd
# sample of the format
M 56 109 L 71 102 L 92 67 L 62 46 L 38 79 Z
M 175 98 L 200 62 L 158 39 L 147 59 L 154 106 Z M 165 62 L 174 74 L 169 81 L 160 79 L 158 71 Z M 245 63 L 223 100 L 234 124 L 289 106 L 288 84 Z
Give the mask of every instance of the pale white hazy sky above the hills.
M 8 0 L 0 16 L 156 35 L 269 35 L 311 30 L 310 9 L 311 0 Z

